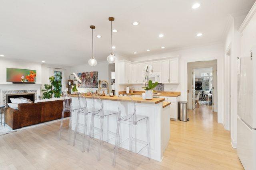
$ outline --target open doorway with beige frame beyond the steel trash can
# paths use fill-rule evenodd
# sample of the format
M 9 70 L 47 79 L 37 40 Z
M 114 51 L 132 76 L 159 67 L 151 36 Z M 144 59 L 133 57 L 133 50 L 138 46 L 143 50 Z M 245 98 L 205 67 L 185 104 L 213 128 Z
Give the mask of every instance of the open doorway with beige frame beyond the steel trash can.
M 188 109 L 207 105 L 217 112 L 217 91 L 217 60 L 188 63 Z

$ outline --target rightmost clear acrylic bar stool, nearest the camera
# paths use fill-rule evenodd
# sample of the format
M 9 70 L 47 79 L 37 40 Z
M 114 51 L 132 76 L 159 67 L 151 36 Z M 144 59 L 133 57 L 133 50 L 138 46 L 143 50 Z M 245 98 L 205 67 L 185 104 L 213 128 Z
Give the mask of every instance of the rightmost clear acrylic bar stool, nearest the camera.
M 127 102 L 130 100 L 130 102 Z M 137 139 L 137 125 L 138 123 L 145 121 L 146 124 L 146 141 L 138 140 Z M 129 137 L 124 141 L 120 141 L 120 123 L 124 123 L 129 125 Z M 133 137 L 133 134 L 134 137 Z M 134 165 L 136 167 L 136 155 L 142 149 L 147 147 L 148 149 L 148 159 L 150 160 L 150 136 L 149 136 L 149 127 L 148 127 L 148 116 L 145 115 L 137 115 L 136 114 L 136 106 L 134 100 L 129 95 L 120 94 L 118 96 L 118 124 L 116 130 L 116 144 L 114 147 L 114 158 L 113 158 L 113 166 L 116 165 L 116 154 L 118 149 L 120 149 L 120 144 L 125 143 L 128 141 L 129 143 L 129 150 L 134 152 Z M 140 150 L 137 150 L 137 142 L 142 144 Z M 133 146 L 134 144 L 134 146 Z

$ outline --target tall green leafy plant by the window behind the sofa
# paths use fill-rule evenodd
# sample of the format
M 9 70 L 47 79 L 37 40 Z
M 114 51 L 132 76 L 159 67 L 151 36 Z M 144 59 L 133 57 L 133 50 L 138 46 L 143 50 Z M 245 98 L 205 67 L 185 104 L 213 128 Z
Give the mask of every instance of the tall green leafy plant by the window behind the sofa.
M 62 76 L 59 74 L 56 74 L 56 76 L 49 77 L 51 84 L 44 84 L 44 90 L 42 90 L 43 93 L 43 99 L 50 99 L 52 98 L 52 95 L 54 95 L 55 98 L 60 98 L 61 96 L 61 79 Z

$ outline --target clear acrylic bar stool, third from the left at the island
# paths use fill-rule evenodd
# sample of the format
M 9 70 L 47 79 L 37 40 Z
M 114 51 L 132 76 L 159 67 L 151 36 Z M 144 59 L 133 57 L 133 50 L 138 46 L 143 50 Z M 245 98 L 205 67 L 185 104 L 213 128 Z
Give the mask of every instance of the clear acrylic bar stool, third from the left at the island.
M 98 160 L 100 160 L 101 159 L 101 152 L 102 152 L 102 145 L 103 145 L 103 141 L 104 141 L 104 136 L 103 136 L 104 131 L 106 132 L 106 140 L 105 141 L 107 141 L 107 142 L 109 140 L 108 135 L 112 133 L 108 130 L 108 117 L 110 115 L 114 115 L 114 114 L 116 114 L 116 116 L 117 116 L 118 112 L 117 111 L 111 111 L 111 110 L 104 110 L 102 100 L 95 93 L 92 93 L 92 100 L 93 100 L 93 107 L 92 107 L 92 117 L 91 117 L 90 133 L 89 133 L 89 138 L 88 138 L 87 152 L 89 152 L 89 149 L 90 149 L 91 139 L 93 139 L 95 137 L 95 135 L 100 135 L 99 136 L 99 141 L 98 141 Z M 100 119 L 100 128 L 94 127 L 94 118 Z M 106 118 L 106 120 L 105 120 L 105 118 Z M 104 127 L 103 127 L 103 121 L 104 120 L 106 121 L 106 129 L 104 129 Z M 99 132 L 95 132 L 96 130 L 98 130 Z M 114 137 L 115 137 L 115 135 L 114 135 Z

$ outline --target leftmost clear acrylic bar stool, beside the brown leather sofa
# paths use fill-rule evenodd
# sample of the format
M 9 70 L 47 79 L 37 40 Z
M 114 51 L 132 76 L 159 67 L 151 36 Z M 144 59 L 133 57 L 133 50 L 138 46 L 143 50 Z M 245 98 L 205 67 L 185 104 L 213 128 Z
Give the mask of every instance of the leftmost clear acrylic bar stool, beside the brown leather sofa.
M 60 132 L 59 132 L 59 137 L 58 140 L 60 140 L 61 136 L 61 131 L 63 129 L 63 118 L 65 112 L 70 113 L 69 117 L 69 125 L 68 125 L 68 145 L 70 145 L 70 131 L 71 131 L 71 123 L 72 123 L 72 113 L 74 110 L 78 110 L 79 108 L 73 108 L 72 106 L 72 98 L 66 93 L 62 92 L 62 98 L 63 98 L 63 109 L 62 109 L 62 117 L 61 117 L 61 122 L 60 122 Z

